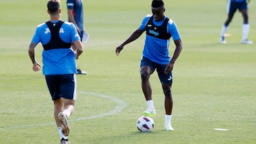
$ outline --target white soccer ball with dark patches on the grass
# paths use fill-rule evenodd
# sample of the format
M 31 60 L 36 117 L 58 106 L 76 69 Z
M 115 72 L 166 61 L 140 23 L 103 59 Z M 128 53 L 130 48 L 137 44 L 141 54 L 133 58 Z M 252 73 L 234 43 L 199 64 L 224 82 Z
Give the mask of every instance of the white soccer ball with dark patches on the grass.
M 149 132 L 154 129 L 154 121 L 152 118 L 142 116 L 137 120 L 137 128 L 142 132 Z

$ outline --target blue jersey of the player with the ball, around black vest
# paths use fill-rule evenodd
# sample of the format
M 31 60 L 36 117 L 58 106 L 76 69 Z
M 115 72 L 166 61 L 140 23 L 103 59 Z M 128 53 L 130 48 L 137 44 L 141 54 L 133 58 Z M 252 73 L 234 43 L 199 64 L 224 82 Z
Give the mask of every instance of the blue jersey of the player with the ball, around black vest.
M 152 15 L 147 15 L 144 17 L 142 24 L 139 26 L 140 30 L 146 30 L 146 23 L 148 23 L 151 16 Z M 153 18 L 153 23 L 156 26 L 161 26 L 164 23 L 164 19 L 162 21 L 156 21 Z M 178 33 L 178 28 L 171 19 L 169 19 L 169 22 L 167 23 L 167 31 L 167 33 L 171 34 L 173 40 L 181 39 L 181 36 Z M 146 34 L 142 56 L 149 58 L 149 60 L 153 62 L 166 65 L 171 60 L 169 55 L 169 43 L 170 39 L 160 39 Z

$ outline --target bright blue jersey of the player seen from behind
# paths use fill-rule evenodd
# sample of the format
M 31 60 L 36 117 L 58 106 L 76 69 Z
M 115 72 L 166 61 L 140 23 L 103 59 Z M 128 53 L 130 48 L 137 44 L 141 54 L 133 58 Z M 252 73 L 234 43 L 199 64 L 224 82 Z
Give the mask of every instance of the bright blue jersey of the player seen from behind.
M 58 23 L 58 21 L 51 21 Z M 59 31 L 60 39 L 66 43 L 73 43 L 80 40 L 80 36 L 73 23 L 65 22 Z M 49 43 L 51 38 L 50 29 L 46 23 L 42 23 L 36 27 L 33 35 L 33 43 L 41 43 L 45 45 Z M 75 74 L 75 53 L 72 48 L 57 48 L 52 50 L 43 50 L 43 74 Z

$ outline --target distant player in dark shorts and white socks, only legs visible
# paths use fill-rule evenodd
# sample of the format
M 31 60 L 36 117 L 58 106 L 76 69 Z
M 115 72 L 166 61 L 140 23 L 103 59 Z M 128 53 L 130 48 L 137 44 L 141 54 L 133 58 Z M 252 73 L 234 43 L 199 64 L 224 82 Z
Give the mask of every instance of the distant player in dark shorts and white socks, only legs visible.
M 250 2 L 250 0 L 248 0 Z M 228 0 L 227 4 L 227 12 L 228 12 L 228 18 L 223 24 L 223 27 L 220 32 L 220 43 L 227 43 L 225 40 L 225 33 L 228 30 L 228 26 L 230 22 L 233 19 L 233 16 L 235 14 L 235 11 L 239 10 L 242 13 L 243 23 L 242 23 L 242 41 L 243 44 L 252 44 L 253 42 L 250 40 L 247 40 L 249 31 L 250 31 L 250 25 L 248 21 L 248 6 L 247 6 L 247 0 Z

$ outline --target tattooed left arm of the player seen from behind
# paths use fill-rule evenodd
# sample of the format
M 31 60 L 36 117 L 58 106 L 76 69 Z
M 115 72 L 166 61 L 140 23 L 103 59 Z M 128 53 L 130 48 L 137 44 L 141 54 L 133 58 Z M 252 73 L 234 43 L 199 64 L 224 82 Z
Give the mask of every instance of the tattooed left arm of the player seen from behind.
M 39 62 L 36 60 L 35 57 L 35 48 L 36 48 L 36 43 L 31 42 L 30 45 L 28 46 L 28 55 L 31 58 L 31 62 L 33 64 L 33 71 L 37 72 L 38 70 L 41 70 L 41 65 Z

